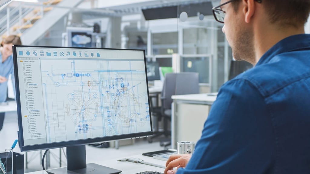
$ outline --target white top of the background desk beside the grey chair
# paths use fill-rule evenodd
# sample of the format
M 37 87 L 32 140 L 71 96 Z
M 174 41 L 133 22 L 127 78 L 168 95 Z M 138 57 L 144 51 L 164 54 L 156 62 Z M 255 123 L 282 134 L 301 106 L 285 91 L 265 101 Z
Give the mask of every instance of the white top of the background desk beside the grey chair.
M 176 100 L 176 102 L 185 102 L 185 103 L 195 103 L 195 104 L 206 104 L 212 105 L 215 101 L 216 96 L 205 94 L 188 94 L 188 95 L 173 95 L 171 98 Z

